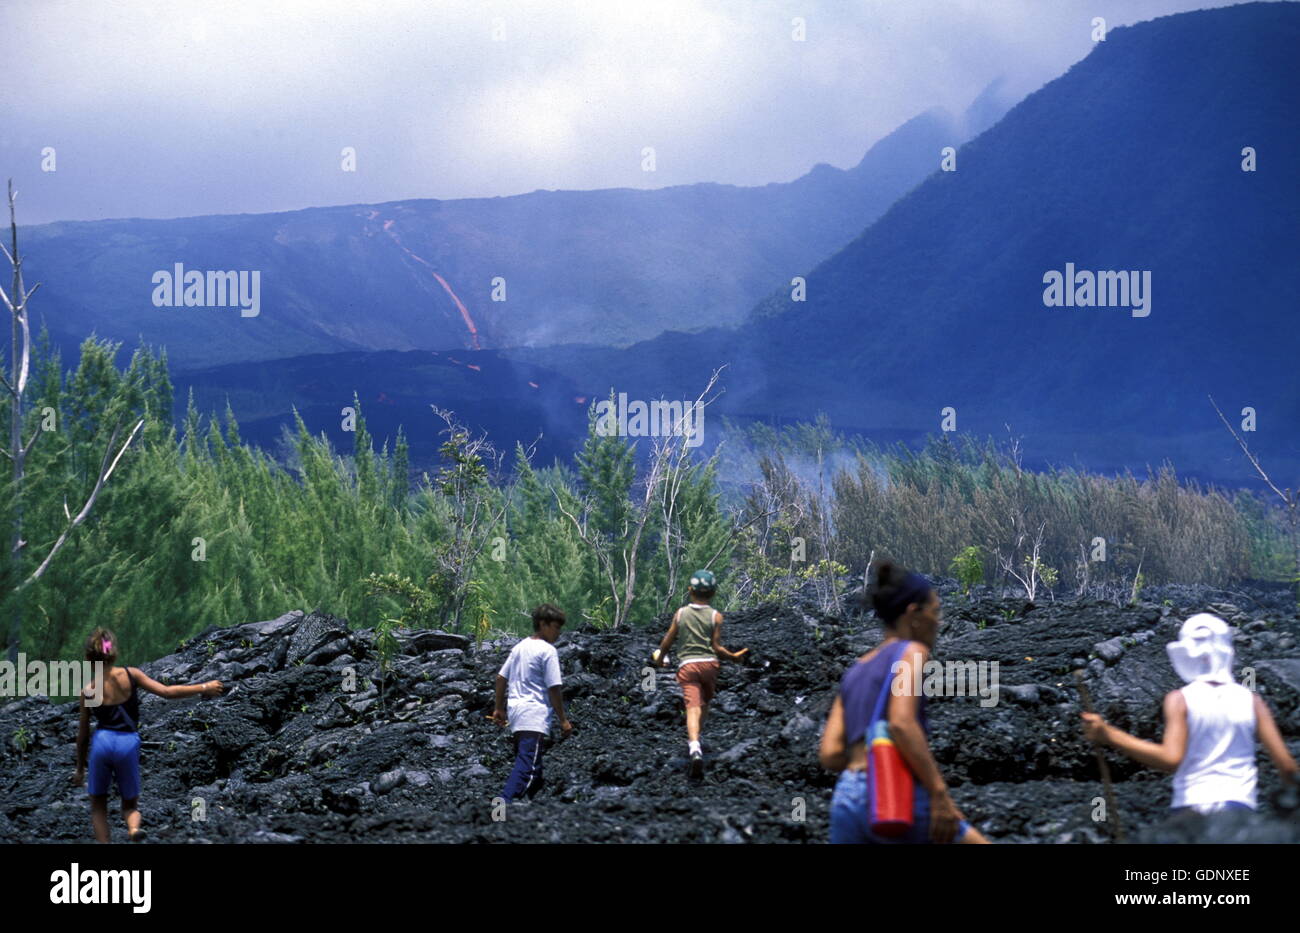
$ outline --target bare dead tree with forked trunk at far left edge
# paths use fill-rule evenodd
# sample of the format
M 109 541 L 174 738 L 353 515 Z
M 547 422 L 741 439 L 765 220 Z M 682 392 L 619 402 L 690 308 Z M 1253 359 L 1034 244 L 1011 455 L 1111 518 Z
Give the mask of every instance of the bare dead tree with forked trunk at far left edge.
M 13 190 L 13 179 L 10 178 L 9 247 L 6 248 L 3 243 L 0 243 L 0 251 L 4 252 L 5 259 L 9 260 L 9 265 L 13 266 L 12 294 L 5 294 L 4 288 L 0 287 L 0 300 L 3 300 L 5 308 L 9 309 L 10 318 L 9 374 L 8 377 L 0 376 L 0 382 L 4 383 L 5 390 L 9 392 L 9 447 L 8 450 L 0 448 L 0 455 L 8 459 L 13 465 L 13 528 L 9 539 L 9 561 L 12 568 L 12 580 L 20 581 L 13 590 L 16 595 L 22 594 L 29 586 L 44 576 L 46 570 L 49 569 L 49 564 L 53 561 L 55 555 L 57 555 L 58 551 L 62 550 L 64 544 L 68 543 L 68 537 L 78 525 L 86 521 L 86 517 L 95 507 L 95 500 L 99 498 L 100 490 L 104 489 L 104 483 L 107 483 L 109 477 L 113 476 L 113 470 L 117 468 L 122 455 L 126 454 L 126 448 L 131 446 L 131 442 L 135 441 L 135 435 L 139 434 L 140 428 L 144 425 L 143 418 L 135 422 L 135 426 L 131 428 L 130 433 L 126 435 L 126 441 L 122 442 L 122 446 L 117 450 L 116 455 L 113 455 L 113 448 L 117 444 L 117 438 L 121 434 L 124 424 L 120 422 L 113 426 L 108 444 L 104 448 L 104 457 L 100 461 L 99 474 L 95 479 L 94 489 L 90 491 L 90 495 L 86 496 L 86 502 L 77 511 L 75 516 L 68 509 L 68 503 L 64 503 L 64 516 L 68 518 L 68 525 L 46 554 L 44 560 L 40 561 L 31 574 L 23 578 L 22 548 L 27 544 L 27 542 L 22 539 L 23 479 L 26 477 L 27 455 L 31 454 L 36 441 L 46 431 L 36 428 L 26 442 L 22 439 L 25 415 L 23 403 L 26 402 L 27 395 L 27 377 L 31 373 L 31 325 L 27 317 L 27 304 L 31 300 L 31 296 L 36 294 L 36 288 L 40 287 L 40 283 L 38 282 L 27 290 L 22 282 L 22 255 L 18 252 L 18 217 L 16 211 L 17 198 L 18 192 Z M 21 635 L 22 611 L 16 607 L 9 628 L 10 661 L 16 661 L 18 658 L 18 643 Z

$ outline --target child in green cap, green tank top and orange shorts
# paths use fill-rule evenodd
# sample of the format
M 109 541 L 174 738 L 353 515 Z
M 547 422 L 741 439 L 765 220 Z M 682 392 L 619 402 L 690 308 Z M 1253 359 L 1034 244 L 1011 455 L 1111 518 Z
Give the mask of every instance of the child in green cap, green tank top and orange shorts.
M 686 704 L 686 739 L 690 756 L 690 776 L 703 773 L 703 752 L 699 747 L 699 728 L 708 716 L 708 702 L 718 689 L 719 658 L 738 661 L 749 648 L 728 651 L 723 647 L 723 613 L 710 606 L 718 583 L 708 570 L 697 570 L 690 577 L 690 604 L 682 606 L 672 617 L 668 633 L 654 652 L 654 663 L 663 667 L 668 648 L 677 647 L 677 684 L 681 685 Z

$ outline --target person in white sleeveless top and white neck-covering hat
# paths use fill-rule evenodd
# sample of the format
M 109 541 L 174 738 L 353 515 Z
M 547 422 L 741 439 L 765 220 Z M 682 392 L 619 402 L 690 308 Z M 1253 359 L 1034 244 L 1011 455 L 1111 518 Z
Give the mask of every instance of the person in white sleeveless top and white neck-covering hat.
M 1296 763 L 1269 704 L 1232 680 L 1232 633 L 1218 616 L 1197 613 L 1166 646 L 1187 686 L 1165 697 L 1165 735 L 1145 742 L 1083 713 L 1084 734 L 1135 761 L 1174 773 L 1174 812 L 1254 810 L 1254 741 L 1264 745 L 1283 782 L 1296 782 Z

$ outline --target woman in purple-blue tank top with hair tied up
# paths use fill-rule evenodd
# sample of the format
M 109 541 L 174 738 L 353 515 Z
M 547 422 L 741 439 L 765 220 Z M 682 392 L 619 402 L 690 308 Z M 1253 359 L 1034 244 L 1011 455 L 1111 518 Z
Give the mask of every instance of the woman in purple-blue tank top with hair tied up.
M 831 799 L 831 842 L 988 842 L 953 803 L 930 751 L 926 698 L 916 697 L 910 686 L 920 682 L 913 672 L 924 669 L 939 634 L 939 594 L 924 577 L 906 573 L 889 561 L 878 563 L 875 570 L 870 598 L 884 622 L 885 641 L 844 674 L 822 733 L 822 767 L 840 772 Z M 893 673 L 896 664 L 897 673 Z M 867 813 L 866 735 L 884 690 L 889 690 L 884 713 L 889 735 L 914 782 L 911 830 L 898 838 L 872 833 Z

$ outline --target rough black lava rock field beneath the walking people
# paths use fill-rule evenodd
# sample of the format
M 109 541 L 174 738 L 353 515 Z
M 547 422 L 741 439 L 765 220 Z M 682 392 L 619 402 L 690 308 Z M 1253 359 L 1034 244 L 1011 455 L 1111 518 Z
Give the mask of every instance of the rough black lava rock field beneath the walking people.
M 1070 672 L 1087 671 L 1110 721 L 1156 739 L 1161 699 L 1180 686 L 1165 643 L 1193 612 L 1235 628 L 1239 680 L 1254 677 L 1300 756 L 1300 613 L 1284 587 L 1148 587 L 1126 607 L 941 594 L 936 660 L 996 661 L 997 691 L 930 699 L 931 746 L 958 806 L 994 842 L 1113 839 L 1113 821 L 1095 819 L 1102 790 Z M 143 694 L 150 842 L 827 841 L 835 774 L 818 765 L 818 739 L 840 676 L 880 639 L 879 622 L 820 612 L 809 591 L 728 615 L 724 642 L 750 652 L 723 665 L 698 782 L 685 774 L 672 671 L 647 668 L 662 634 L 562 634 L 576 729 L 549 748 L 541 794 L 506 808 L 494 798 L 511 746 L 486 716 L 512 639 L 402 633 L 381 691 L 373 633 L 343 620 L 295 611 L 209 629 L 139 665 L 160 681 L 226 687 L 217 699 Z M 86 790 L 70 782 L 75 735 L 74 703 L 0 707 L 0 841 L 92 839 Z M 1113 751 L 1108 760 L 1128 841 L 1300 841 L 1297 816 L 1273 802 L 1279 782 L 1262 750 L 1260 812 L 1231 821 L 1167 820 L 1169 776 Z M 109 813 L 124 841 L 116 802 Z

